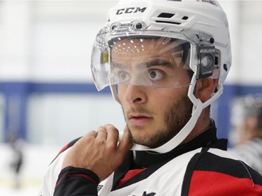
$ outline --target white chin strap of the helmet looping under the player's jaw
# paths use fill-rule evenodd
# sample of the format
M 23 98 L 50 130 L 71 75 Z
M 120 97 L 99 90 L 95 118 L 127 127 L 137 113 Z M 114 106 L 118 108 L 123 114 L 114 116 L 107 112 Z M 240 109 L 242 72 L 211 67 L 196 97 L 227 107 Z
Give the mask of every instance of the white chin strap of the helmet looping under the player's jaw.
M 159 146 L 157 148 L 151 149 L 148 146 L 143 146 L 141 144 L 133 144 L 133 147 L 131 150 L 133 151 L 154 151 L 157 153 L 167 153 L 168 151 L 171 151 L 175 149 L 181 142 L 186 139 L 186 137 L 191 133 L 191 130 L 193 130 L 194 126 L 196 126 L 196 121 L 198 121 L 198 117 L 201 115 L 202 110 L 210 105 L 214 100 L 217 100 L 221 93 L 223 92 L 223 86 L 220 85 L 219 89 L 216 93 L 213 94 L 213 96 L 205 101 L 205 103 L 202 103 L 200 99 L 196 98 L 194 96 L 194 88 L 196 86 L 196 76 L 194 75 L 193 78 L 191 79 L 191 85 L 189 86 L 189 91 L 187 93 L 187 96 L 189 96 L 189 99 L 193 103 L 193 109 L 191 113 L 191 118 L 187 122 L 187 124 L 180 130 L 177 135 L 175 135 L 171 140 L 166 142 L 166 144 L 163 144 L 162 146 Z M 117 96 L 117 91 L 115 89 L 115 86 L 110 86 L 111 91 L 112 91 L 112 96 L 117 100 L 118 103 L 120 103 L 119 98 Z M 122 138 L 122 133 L 119 134 L 120 140 Z

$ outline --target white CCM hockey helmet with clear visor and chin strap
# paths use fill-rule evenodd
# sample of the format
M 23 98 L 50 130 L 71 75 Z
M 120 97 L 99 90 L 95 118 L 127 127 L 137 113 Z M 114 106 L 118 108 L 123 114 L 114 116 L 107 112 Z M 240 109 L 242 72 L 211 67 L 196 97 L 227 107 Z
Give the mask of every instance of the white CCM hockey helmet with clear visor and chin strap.
M 152 82 L 151 77 L 156 77 L 156 73 L 150 73 L 146 63 L 139 66 L 141 74 L 136 76 L 136 82 L 130 80 L 133 75 L 129 70 L 124 75 L 115 72 L 119 65 L 112 62 L 114 52 L 123 56 L 131 52 L 138 54 L 143 52 L 143 42 L 150 38 L 158 39 L 157 43 L 165 45 L 161 47 L 161 54 L 173 50 L 173 62 L 189 70 L 190 82 L 185 84 L 175 79 L 167 83 Z M 140 44 L 136 42 L 136 45 L 130 45 L 138 39 Z M 129 47 L 125 47 L 126 43 L 129 43 Z M 133 146 L 134 150 L 165 153 L 189 135 L 203 108 L 217 100 L 223 92 L 223 83 L 231 68 L 231 42 L 226 14 L 213 0 L 120 0 L 108 11 L 108 21 L 96 36 L 91 67 L 96 88 L 100 91 L 110 86 L 112 96 L 117 101 L 117 84 L 159 88 L 189 86 L 188 96 L 194 107 L 191 119 L 184 128 L 156 149 Z M 145 79 L 145 75 L 150 78 Z M 202 103 L 194 96 L 194 86 L 197 80 L 205 77 L 217 78 L 219 82 L 210 99 Z

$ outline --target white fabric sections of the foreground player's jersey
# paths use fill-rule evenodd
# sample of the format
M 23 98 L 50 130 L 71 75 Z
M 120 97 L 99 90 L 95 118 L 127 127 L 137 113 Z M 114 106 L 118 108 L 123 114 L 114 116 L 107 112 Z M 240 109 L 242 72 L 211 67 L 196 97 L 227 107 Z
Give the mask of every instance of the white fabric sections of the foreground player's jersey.
M 201 154 L 202 150 L 203 148 L 200 148 L 184 153 L 181 156 L 177 156 L 157 169 L 157 171 L 152 173 L 149 177 L 147 177 L 147 179 L 133 183 L 130 186 L 111 191 L 113 173 L 108 177 L 108 179 L 105 179 L 105 181 L 102 181 L 99 184 L 99 195 L 182 195 L 182 183 L 184 182 L 184 176 L 186 176 L 185 173 L 187 172 L 189 162 L 194 156 L 196 156 L 196 154 Z M 59 176 L 59 172 L 61 171 L 61 164 L 67 152 L 68 149 L 61 153 L 48 168 L 43 179 L 43 186 L 40 195 L 53 195 L 57 178 Z M 222 151 L 220 149 L 208 149 L 208 153 L 212 153 L 215 156 L 220 156 L 222 158 L 232 159 L 232 156 L 227 151 Z

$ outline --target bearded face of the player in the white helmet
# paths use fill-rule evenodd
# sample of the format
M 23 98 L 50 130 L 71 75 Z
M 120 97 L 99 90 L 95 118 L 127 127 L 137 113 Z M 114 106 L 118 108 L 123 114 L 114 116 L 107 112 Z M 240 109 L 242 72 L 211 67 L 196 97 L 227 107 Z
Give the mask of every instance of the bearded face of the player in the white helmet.
M 172 139 L 191 117 L 189 75 L 177 55 L 181 49 L 170 49 L 171 44 L 174 41 L 133 39 L 120 40 L 112 48 L 112 71 L 119 80 L 118 96 L 133 142 L 150 148 Z M 139 52 L 119 52 L 120 47 Z M 173 83 L 187 85 L 170 87 Z

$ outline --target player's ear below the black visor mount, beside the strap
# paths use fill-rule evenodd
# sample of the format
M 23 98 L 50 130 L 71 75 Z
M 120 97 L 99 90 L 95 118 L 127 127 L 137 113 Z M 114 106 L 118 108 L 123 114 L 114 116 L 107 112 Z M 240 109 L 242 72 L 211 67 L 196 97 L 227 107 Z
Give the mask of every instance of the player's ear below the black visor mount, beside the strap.
M 214 93 L 217 82 L 217 79 L 212 79 L 210 77 L 198 80 L 195 87 L 196 98 L 199 98 L 203 103 L 207 101 L 212 93 Z

